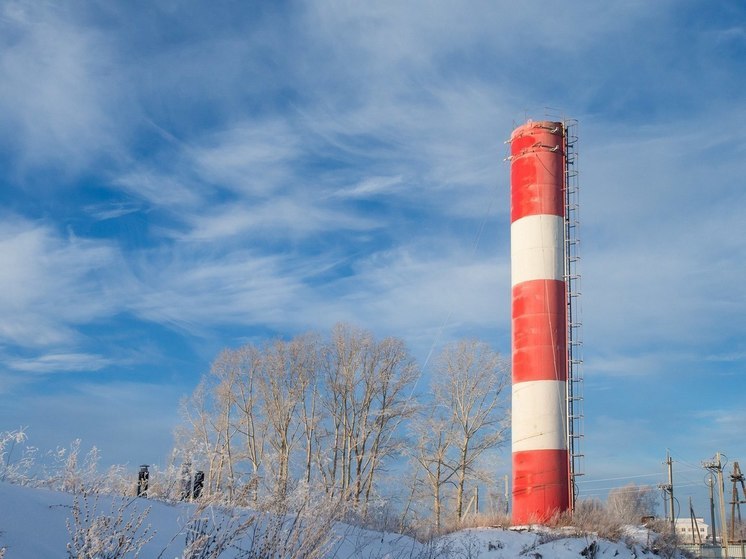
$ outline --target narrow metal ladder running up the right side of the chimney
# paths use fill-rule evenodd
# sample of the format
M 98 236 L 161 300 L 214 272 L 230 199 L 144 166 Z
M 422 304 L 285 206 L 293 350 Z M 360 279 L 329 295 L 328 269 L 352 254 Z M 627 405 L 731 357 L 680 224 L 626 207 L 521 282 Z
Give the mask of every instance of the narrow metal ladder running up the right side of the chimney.
M 583 341 L 580 305 L 580 184 L 578 121 L 563 121 L 565 132 L 565 286 L 567 290 L 567 450 L 570 466 L 570 510 L 575 509 L 578 477 L 585 455 L 583 439 Z

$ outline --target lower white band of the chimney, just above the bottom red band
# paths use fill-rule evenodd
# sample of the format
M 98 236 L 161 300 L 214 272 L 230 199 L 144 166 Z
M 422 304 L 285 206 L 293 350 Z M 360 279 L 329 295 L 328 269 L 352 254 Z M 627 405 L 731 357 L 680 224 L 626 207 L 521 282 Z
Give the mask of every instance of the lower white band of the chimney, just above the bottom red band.
M 513 452 L 567 448 L 565 383 L 532 380 L 513 385 Z

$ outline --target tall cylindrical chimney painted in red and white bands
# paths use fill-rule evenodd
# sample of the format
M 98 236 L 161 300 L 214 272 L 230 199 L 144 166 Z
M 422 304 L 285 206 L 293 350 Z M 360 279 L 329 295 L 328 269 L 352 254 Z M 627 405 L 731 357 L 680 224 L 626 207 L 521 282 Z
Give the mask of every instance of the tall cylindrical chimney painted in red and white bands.
M 510 137 L 515 525 L 569 507 L 564 146 L 561 122 Z

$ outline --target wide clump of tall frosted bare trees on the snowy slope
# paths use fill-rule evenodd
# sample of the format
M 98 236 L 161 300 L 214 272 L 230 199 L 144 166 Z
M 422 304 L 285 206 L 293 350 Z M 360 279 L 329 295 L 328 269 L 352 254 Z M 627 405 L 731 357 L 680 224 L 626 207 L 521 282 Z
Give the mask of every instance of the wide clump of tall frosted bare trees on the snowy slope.
M 182 406 L 180 452 L 229 502 L 303 481 L 364 508 L 401 449 L 417 374 L 401 340 L 349 325 L 227 349 Z

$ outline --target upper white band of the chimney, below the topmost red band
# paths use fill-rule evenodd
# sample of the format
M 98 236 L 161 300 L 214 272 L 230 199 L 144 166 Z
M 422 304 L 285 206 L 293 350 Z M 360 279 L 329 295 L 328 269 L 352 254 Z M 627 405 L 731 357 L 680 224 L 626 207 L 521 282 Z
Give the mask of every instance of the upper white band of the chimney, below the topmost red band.
M 565 225 L 562 216 L 527 215 L 510 226 L 511 285 L 536 279 L 562 281 Z

